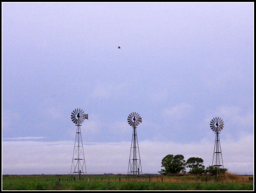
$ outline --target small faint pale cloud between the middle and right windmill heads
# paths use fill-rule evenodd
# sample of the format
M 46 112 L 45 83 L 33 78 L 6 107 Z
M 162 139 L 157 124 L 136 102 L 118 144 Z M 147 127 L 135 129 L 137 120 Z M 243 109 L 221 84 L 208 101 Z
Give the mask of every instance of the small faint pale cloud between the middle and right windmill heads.
M 164 109 L 163 115 L 165 117 L 181 119 L 185 115 L 189 114 L 192 111 L 192 108 L 192 105 L 183 102 L 174 107 Z

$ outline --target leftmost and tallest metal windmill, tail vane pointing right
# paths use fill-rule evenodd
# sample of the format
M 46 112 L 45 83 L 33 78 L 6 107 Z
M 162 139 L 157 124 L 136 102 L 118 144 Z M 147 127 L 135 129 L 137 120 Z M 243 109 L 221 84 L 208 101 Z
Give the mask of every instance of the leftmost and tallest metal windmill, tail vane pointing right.
M 85 114 L 80 108 L 74 109 L 71 113 L 71 120 L 77 127 L 70 177 L 71 175 L 76 175 L 78 180 L 81 179 L 81 174 L 86 174 L 85 155 L 80 129 L 81 123 L 84 122 L 85 119 L 88 119 L 88 114 Z

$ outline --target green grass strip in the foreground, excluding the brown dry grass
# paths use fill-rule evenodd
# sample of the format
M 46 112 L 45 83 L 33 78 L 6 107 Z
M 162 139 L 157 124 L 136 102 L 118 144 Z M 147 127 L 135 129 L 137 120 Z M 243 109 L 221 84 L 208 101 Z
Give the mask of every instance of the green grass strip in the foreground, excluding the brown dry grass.
M 62 177 L 53 176 L 3 177 L 2 188 L 3 190 L 253 190 L 253 183 L 88 182 L 63 181 Z

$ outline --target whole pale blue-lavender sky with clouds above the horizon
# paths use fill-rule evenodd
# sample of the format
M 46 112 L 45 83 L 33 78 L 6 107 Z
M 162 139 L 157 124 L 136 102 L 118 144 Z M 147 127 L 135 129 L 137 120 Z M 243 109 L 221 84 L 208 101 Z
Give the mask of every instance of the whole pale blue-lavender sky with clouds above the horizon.
M 254 3 L 2 3 L 2 174 L 70 173 L 75 108 L 87 173 L 168 154 L 253 174 Z M 118 46 L 121 49 L 118 49 Z

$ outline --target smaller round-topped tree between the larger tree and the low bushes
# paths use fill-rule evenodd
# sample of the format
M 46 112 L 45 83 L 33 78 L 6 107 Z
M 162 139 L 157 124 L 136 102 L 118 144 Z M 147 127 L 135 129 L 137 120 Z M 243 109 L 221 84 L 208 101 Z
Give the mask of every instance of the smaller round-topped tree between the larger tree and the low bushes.
M 188 158 L 186 165 L 190 168 L 188 173 L 200 174 L 205 172 L 205 166 L 203 165 L 204 160 L 199 157 Z

